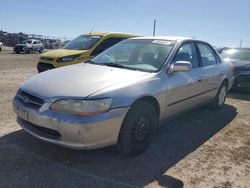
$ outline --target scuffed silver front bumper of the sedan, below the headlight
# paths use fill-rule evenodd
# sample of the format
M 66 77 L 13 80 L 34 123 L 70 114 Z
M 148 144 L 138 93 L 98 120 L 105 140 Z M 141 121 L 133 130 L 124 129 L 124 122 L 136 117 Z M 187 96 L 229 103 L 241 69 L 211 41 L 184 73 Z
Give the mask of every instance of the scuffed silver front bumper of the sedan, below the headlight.
M 51 104 L 51 103 L 50 103 Z M 111 109 L 94 116 L 54 112 L 44 103 L 39 109 L 13 100 L 18 124 L 33 136 L 74 149 L 94 149 L 117 143 L 129 107 Z

